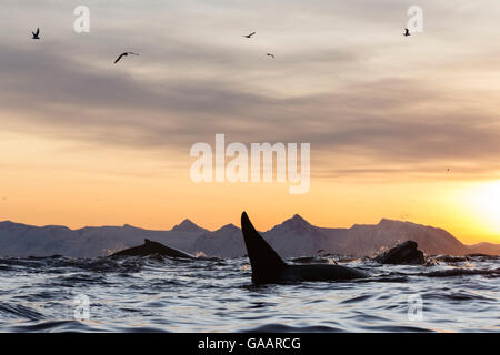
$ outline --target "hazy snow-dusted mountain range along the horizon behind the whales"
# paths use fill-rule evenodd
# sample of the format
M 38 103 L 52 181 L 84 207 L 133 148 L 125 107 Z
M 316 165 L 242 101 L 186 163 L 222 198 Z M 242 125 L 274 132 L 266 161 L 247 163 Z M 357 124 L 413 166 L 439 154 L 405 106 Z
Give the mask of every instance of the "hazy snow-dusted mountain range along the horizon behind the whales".
M 416 241 L 419 248 L 430 255 L 500 255 L 500 244 L 466 245 L 444 230 L 386 219 L 378 224 L 328 229 L 314 226 L 296 214 L 261 234 L 284 257 L 311 256 L 320 251 L 372 256 L 408 240 Z M 33 226 L 4 221 L 0 222 L 0 256 L 97 257 L 142 244 L 144 239 L 207 256 L 238 257 L 247 253 L 241 230 L 233 224 L 209 231 L 184 220 L 170 231 L 151 231 L 128 224 L 70 230 L 59 225 Z

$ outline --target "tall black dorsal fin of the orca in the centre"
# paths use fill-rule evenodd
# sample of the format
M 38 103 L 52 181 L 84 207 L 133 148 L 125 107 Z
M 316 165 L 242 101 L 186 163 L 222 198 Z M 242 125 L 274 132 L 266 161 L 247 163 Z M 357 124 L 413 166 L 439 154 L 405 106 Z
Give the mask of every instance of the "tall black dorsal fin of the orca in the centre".
M 252 266 L 252 281 L 254 283 L 278 282 L 281 271 L 287 266 L 287 263 L 256 231 L 247 212 L 241 214 L 241 231 L 243 232 L 248 257 Z

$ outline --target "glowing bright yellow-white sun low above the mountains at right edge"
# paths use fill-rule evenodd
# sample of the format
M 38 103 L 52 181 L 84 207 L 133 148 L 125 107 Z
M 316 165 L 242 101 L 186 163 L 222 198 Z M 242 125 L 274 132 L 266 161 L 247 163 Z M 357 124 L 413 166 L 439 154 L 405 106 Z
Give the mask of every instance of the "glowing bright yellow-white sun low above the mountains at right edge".
M 473 187 L 468 200 L 484 230 L 500 234 L 500 180 Z

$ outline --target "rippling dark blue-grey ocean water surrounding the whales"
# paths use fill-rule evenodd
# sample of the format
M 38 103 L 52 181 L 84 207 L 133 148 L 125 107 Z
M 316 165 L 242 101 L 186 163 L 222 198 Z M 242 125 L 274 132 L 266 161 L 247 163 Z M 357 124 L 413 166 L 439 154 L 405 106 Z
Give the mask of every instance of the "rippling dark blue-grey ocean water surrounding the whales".
M 500 257 L 290 262 L 333 258 L 371 277 L 256 286 L 247 258 L 0 258 L 0 332 L 500 332 Z

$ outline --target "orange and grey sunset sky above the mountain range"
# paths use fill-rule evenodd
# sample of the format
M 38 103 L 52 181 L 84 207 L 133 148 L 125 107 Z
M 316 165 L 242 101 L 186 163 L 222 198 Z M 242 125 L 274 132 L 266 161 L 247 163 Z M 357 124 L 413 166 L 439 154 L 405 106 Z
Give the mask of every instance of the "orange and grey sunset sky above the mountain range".
M 500 243 L 499 18 L 493 0 L 2 0 L 0 220 L 214 230 L 244 210 L 261 230 L 386 217 Z M 217 133 L 310 143 L 310 191 L 196 184 L 190 148 Z

